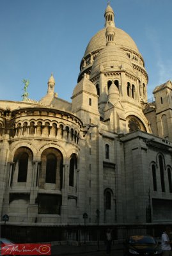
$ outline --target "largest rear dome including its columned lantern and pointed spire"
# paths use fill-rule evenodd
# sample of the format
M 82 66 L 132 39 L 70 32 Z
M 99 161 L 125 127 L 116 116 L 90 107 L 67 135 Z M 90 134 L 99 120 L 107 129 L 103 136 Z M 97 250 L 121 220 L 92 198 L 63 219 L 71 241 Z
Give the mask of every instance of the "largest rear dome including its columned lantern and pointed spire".
M 84 73 L 88 75 L 91 74 L 91 77 L 93 77 L 93 72 L 91 72 L 93 63 L 97 60 L 100 52 L 106 48 L 107 42 L 109 42 L 108 44 L 111 44 L 113 41 L 113 47 L 118 48 L 120 52 L 122 51 L 125 54 L 125 58 L 123 56 L 123 60 L 125 60 L 125 63 L 127 63 L 125 65 L 128 65 L 128 67 L 126 66 L 127 69 L 131 71 L 132 65 L 132 67 L 135 69 L 135 75 L 136 70 L 138 70 L 140 75 L 143 74 L 143 76 L 146 77 L 147 83 L 148 75 L 146 74 L 143 57 L 141 56 L 134 40 L 132 40 L 132 38 L 125 31 L 120 28 L 116 28 L 113 8 L 111 8 L 109 4 L 107 5 L 104 17 L 105 28 L 98 31 L 98 33 L 91 38 L 86 47 L 86 51 L 84 52 L 84 56 L 81 60 L 78 82 L 81 81 Z M 116 49 L 114 49 L 114 51 L 116 51 Z M 109 58 L 111 58 L 110 55 Z

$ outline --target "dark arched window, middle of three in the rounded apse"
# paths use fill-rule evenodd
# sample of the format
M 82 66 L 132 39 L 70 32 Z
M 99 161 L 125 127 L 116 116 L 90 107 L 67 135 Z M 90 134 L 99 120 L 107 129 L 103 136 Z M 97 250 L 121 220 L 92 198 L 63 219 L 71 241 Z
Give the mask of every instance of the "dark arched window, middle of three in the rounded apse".
M 45 183 L 56 184 L 57 159 L 54 154 L 47 155 Z

